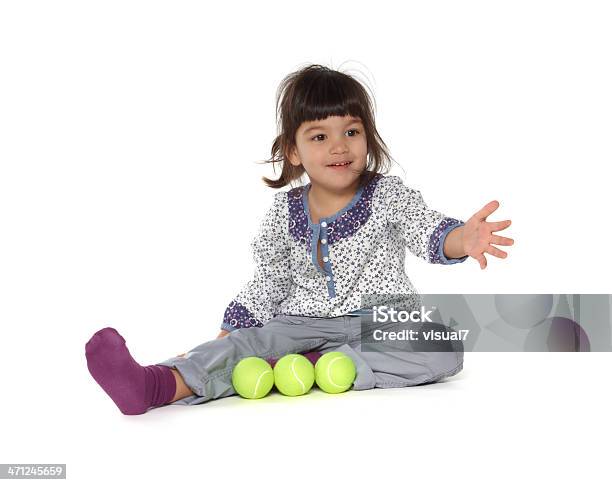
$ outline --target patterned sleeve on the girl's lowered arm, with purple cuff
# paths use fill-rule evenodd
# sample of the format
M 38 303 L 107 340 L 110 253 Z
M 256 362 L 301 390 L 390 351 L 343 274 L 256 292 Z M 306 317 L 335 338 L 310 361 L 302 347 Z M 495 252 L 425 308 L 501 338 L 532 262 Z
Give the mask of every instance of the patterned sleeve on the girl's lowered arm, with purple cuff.
M 291 287 L 288 225 L 287 193 L 278 192 L 251 241 L 255 274 L 227 306 L 223 330 L 262 327 L 275 316 Z

